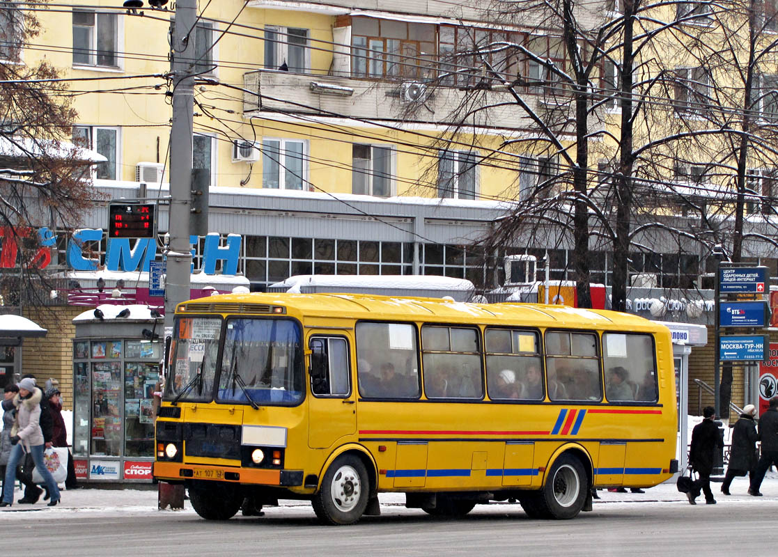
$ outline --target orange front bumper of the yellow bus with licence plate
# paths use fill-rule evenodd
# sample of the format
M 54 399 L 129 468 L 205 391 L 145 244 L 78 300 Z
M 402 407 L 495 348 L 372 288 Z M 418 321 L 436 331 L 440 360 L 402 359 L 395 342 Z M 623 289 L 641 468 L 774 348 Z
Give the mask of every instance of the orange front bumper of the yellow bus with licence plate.
M 256 485 L 280 485 L 295 487 L 303 485 L 302 470 L 264 470 L 260 468 L 232 468 L 225 466 L 204 466 L 180 462 L 155 462 L 153 476 L 163 482 L 184 480 L 205 480 L 214 482 L 235 482 Z

